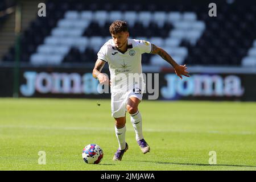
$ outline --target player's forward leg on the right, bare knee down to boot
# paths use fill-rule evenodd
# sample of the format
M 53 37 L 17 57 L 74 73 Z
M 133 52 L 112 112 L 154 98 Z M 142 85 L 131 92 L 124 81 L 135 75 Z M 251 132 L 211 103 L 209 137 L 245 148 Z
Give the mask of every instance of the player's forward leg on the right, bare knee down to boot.
M 150 147 L 144 140 L 142 134 L 142 117 L 138 109 L 138 105 L 140 102 L 141 100 L 139 100 L 139 98 L 131 96 L 127 101 L 126 109 L 131 116 L 131 123 L 134 127 L 137 143 L 141 147 L 141 151 L 143 152 L 143 154 L 146 154 L 150 151 Z

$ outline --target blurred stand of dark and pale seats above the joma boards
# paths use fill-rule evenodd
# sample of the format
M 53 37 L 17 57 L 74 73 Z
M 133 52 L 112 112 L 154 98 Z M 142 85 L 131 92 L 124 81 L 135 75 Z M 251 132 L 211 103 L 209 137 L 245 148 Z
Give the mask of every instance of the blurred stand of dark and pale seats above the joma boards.
M 122 19 L 131 38 L 164 48 L 179 64 L 256 65 L 256 7 L 235 3 L 222 1 L 217 17 L 209 17 L 204 5 L 48 1 L 47 17 L 38 17 L 23 33 L 20 59 L 38 66 L 94 63 L 111 39 L 110 24 Z M 13 55 L 10 48 L 3 60 Z M 144 54 L 142 61 L 168 65 L 156 55 Z

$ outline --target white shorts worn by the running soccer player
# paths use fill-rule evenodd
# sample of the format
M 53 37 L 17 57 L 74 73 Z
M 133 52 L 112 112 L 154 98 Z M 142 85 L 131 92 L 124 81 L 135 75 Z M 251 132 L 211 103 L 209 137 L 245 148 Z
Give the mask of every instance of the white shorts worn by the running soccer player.
M 127 111 L 126 105 L 130 97 L 136 97 L 139 100 L 142 100 L 143 93 L 141 89 L 134 88 L 129 92 L 114 92 L 111 94 L 111 111 L 112 117 L 120 118 L 125 117 Z

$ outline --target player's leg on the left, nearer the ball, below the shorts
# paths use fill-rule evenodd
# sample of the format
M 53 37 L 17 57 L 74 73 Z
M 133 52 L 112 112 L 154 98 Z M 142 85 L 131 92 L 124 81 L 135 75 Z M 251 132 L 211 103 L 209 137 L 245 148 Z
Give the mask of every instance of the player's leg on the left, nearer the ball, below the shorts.
M 125 142 L 126 117 L 115 118 L 115 136 L 117 136 L 119 148 L 115 152 L 113 160 L 122 160 L 123 154 L 128 150 L 128 144 Z

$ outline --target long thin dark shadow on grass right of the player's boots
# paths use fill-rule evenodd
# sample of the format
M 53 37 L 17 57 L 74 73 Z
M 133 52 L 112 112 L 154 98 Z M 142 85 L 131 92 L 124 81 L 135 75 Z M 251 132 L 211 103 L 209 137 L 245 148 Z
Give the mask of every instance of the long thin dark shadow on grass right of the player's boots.
M 233 165 L 233 164 L 196 164 L 196 163 L 172 163 L 172 162 L 157 162 L 157 161 L 146 161 L 146 160 L 133 160 L 133 162 L 146 162 L 155 164 L 175 164 L 181 166 L 231 166 L 231 167 L 256 167 L 256 166 L 246 166 L 246 165 Z

